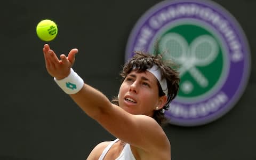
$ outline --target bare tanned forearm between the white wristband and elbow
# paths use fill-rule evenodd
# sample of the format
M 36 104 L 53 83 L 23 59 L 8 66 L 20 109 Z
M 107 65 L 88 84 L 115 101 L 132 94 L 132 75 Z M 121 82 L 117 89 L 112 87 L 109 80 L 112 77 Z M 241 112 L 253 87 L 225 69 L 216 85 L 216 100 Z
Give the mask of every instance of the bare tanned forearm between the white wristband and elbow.
M 111 109 L 111 102 L 108 98 L 87 84 L 84 84 L 76 94 L 70 94 L 70 97 L 87 115 L 94 119 Z

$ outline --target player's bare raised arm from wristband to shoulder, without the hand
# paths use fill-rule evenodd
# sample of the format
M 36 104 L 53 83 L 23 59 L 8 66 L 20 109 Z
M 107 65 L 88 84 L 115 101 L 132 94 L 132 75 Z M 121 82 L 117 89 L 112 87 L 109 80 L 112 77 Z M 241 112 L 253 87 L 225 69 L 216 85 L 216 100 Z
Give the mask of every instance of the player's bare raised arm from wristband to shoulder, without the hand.
M 170 145 L 162 127 L 155 119 L 128 113 L 89 85 L 85 84 L 81 91 L 70 96 L 87 115 L 99 122 L 108 132 L 132 146 L 145 151 L 156 151 L 157 148 Z

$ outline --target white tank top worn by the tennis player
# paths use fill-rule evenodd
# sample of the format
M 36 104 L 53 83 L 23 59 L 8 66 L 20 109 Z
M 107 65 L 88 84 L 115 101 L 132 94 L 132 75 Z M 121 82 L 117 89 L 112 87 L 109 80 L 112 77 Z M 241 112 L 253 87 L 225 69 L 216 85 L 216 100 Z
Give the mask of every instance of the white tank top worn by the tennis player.
M 102 154 L 99 158 L 99 160 L 103 160 L 103 158 L 108 153 L 108 150 L 117 142 L 119 139 L 116 139 L 109 143 L 109 145 L 102 151 Z M 132 150 L 129 144 L 126 144 L 124 146 L 124 149 L 122 150 L 121 154 L 115 159 L 115 160 L 136 160 L 135 157 L 132 154 Z

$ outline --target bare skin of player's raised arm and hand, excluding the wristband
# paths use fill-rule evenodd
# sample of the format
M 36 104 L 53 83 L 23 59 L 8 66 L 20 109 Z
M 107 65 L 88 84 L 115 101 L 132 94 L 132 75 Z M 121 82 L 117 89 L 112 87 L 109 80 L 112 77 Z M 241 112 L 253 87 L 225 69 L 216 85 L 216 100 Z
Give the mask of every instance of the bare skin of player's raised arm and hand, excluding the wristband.
M 44 45 L 43 53 L 49 74 L 57 80 L 67 77 L 77 52 L 77 49 L 72 49 L 68 57 L 62 54 L 59 60 L 50 46 Z M 70 97 L 115 137 L 148 152 L 157 153 L 170 148 L 164 131 L 153 118 L 127 113 L 90 85 L 83 84 L 82 89 L 70 94 Z

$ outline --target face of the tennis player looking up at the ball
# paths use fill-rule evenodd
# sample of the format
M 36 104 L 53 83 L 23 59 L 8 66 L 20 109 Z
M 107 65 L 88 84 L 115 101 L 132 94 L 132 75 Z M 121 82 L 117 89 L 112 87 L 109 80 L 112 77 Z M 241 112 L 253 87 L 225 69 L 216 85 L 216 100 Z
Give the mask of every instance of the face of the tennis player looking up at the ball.
M 156 107 L 162 108 L 162 99 L 158 96 L 156 77 L 149 71 L 126 76 L 119 89 L 119 106 L 131 114 L 153 116 Z

